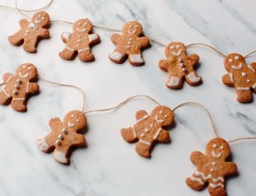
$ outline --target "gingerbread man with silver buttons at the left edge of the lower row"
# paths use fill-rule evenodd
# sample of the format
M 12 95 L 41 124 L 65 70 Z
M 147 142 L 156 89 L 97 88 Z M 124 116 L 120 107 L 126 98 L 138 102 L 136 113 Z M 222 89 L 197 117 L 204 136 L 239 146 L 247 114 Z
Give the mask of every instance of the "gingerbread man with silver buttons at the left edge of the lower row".
M 0 104 L 9 105 L 18 112 L 26 112 L 26 101 L 29 95 L 39 92 L 38 69 L 31 63 L 18 66 L 15 75 L 5 73 L 3 75 L 4 86 L 0 91 Z

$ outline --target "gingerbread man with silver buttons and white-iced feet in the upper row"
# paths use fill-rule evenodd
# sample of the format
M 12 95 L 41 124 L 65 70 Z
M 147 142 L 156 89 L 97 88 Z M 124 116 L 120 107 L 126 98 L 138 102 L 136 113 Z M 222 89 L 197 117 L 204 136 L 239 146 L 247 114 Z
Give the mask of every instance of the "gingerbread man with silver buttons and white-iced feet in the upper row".
M 189 85 L 201 84 L 201 77 L 198 77 L 195 72 L 199 56 L 186 55 L 186 50 L 186 46 L 183 43 L 169 43 L 166 46 L 167 60 L 159 62 L 160 69 L 169 74 L 166 86 L 170 89 L 181 89 L 183 78 Z

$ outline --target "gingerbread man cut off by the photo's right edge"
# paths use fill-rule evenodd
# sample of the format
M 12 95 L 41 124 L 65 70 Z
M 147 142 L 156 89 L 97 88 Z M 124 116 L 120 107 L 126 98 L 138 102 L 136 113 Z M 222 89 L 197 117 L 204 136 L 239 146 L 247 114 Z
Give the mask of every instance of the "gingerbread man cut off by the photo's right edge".
M 225 74 L 222 81 L 225 85 L 236 88 L 237 101 L 253 101 L 252 89 L 256 93 L 256 62 L 247 66 L 242 55 L 233 53 L 226 55 L 224 66 L 229 74 Z

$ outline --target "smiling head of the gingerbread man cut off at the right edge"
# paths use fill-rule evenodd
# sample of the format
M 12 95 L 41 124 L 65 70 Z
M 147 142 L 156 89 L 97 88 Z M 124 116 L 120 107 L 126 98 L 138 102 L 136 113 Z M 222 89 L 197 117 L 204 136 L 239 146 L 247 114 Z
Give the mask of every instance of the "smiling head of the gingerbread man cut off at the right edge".
M 246 66 L 246 62 L 242 55 L 233 53 L 225 56 L 224 66 L 230 72 L 231 70 L 241 70 L 243 66 Z

